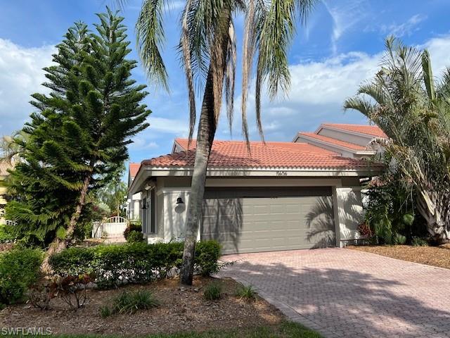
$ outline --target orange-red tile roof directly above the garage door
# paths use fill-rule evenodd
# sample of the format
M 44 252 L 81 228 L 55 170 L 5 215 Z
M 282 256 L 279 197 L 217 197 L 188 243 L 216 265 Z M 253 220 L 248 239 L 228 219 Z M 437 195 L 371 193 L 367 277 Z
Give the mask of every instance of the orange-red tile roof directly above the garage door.
M 306 143 L 214 141 L 208 165 L 216 168 L 365 168 L 364 161 L 343 158 L 333 151 Z M 153 167 L 192 167 L 195 149 L 151 158 L 142 165 Z

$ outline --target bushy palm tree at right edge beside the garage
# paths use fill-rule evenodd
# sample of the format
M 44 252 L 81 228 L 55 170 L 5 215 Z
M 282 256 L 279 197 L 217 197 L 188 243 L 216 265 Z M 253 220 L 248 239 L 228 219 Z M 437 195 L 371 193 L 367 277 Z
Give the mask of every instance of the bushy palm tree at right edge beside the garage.
M 428 51 L 386 40 L 382 68 L 345 101 L 390 137 L 388 170 L 417 189 L 418 211 L 439 243 L 450 241 L 450 68 L 438 82 Z

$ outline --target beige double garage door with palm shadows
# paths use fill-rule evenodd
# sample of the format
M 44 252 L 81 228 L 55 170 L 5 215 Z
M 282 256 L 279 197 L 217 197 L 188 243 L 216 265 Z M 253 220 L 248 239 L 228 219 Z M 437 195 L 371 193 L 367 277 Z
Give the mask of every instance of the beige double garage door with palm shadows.
M 202 238 L 223 253 L 335 246 L 330 196 L 206 199 Z

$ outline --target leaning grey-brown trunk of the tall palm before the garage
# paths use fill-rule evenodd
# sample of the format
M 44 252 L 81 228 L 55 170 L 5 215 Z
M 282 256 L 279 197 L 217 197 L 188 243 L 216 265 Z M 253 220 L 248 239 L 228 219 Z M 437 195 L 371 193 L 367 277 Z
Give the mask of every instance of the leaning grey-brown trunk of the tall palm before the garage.
M 198 227 L 202 215 L 203 195 L 205 193 L 205 181 L 207 163 L 210 158 L 212 142 L 217 128 L 218 111 L 221 106 L 221 95 L 226 72 L 226 54 L 229 43 L 228 27 L 231 14 L 225 13 L 221 18 L 226 29 L 217 42 L 219 52 L 215 54 L 218 60 L 210 61 L 203 104 L 198 122 L 197 145 L 195 149 L 195 163 L 191 182 L 191 195 L 186 217 L 186 234 L 184 237 L 183 263 L 181 265 L 180 282 L 184 285 L 192 285 L 194 273 L 195 244 L 198 237 Z M 212 53 L 212 58 L 214 58 Z M 214 78 L 215 77 L 215 78 Z M 215 86 L 214 86 L 215 84 Z M 219 90 L 217 90 L 219 88 Z M 220 93 L 220 97 L 214 95 Z

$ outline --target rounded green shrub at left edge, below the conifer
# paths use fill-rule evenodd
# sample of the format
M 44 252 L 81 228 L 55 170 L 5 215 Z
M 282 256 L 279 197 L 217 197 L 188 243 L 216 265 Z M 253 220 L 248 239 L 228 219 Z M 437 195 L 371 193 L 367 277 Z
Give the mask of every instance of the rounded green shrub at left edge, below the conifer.
M 22 299 L 27 288 L 39 278 L 42 258 L 41 250 L 20 246 L 0 254 L 0 303 Z

